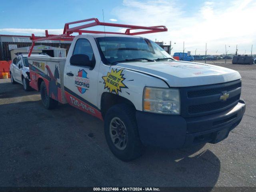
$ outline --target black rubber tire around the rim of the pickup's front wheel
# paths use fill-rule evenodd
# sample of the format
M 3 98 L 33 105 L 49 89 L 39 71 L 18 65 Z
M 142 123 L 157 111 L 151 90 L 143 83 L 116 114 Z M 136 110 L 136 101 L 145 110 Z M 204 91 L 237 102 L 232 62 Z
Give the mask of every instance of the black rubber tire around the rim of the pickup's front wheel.
M 126 147 L 122 150 L 118 149 L 112 141 L 110 132 L 112 120 L 119 118 L 126 128 Z M 118 127 L 117 127 L 118 128 Z M 127 104 L 116 104 L 112 106 L 106 113 L 104 118 L 104 132 L 106 141 L 111 152 L 122 161 L 134 160 L 142 155 L 143 145 L 140 141 L 137 122 L 135 117 L 135 109 Z M 118 134 L 116 132 L 116 134 Z M 115 140 L 116 141 L 116 140 Z

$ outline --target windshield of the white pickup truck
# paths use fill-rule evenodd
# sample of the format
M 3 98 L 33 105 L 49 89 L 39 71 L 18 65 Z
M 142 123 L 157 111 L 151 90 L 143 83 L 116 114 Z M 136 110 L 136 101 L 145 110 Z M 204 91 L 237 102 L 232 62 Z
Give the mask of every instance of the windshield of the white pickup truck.
M 138 37 L 100 37 L 96 38 L 108 63 L 132 60 L 161 60 L 172 57 L 155 42 Z

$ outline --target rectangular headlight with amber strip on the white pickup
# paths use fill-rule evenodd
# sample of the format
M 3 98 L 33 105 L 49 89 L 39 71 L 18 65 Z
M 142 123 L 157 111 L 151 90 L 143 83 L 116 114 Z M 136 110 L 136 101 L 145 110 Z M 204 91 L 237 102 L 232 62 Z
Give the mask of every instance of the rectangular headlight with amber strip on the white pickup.
M 162 114 L 180 114 L 180 92 L 174 88 L 145 87 L 143 110 Z

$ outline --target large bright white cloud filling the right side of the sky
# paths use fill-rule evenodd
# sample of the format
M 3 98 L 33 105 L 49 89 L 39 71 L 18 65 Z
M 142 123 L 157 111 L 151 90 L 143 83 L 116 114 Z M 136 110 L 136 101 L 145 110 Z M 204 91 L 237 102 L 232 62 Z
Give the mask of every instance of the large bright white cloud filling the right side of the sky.
M 256 10 L 255 0 L 206 1 L 188 10 L 186 2 L 179 0 L 123 0 L 122 6 L 113 9 L 118 20 L 126 24 L 156 26 L 165 25 L 168 32 L 144 35 L 152 40 L 176 42 L 174 51 L 182 51 L 185 41 L 186 51 L 204 54 L 207 42 L 208 53 L 218 54 L 250 50 L 256 44 L 256 25 L 253 22 Z M 253 52 L 256 52 L 256 48 Z

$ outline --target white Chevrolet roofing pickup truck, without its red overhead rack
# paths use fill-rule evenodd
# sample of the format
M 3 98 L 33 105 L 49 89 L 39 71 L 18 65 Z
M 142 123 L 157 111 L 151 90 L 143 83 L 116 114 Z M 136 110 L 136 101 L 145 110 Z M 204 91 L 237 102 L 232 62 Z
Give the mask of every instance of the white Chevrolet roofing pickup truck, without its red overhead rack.
M 78 35 L 67 58 L 28 58 L 30 86 L 48 109 L 60 103 L 104 120 L 112 153 L 128 161 L 143 146 L 217 143 L 242 120 L 241 76 L 174 60 L 139 36 Z

